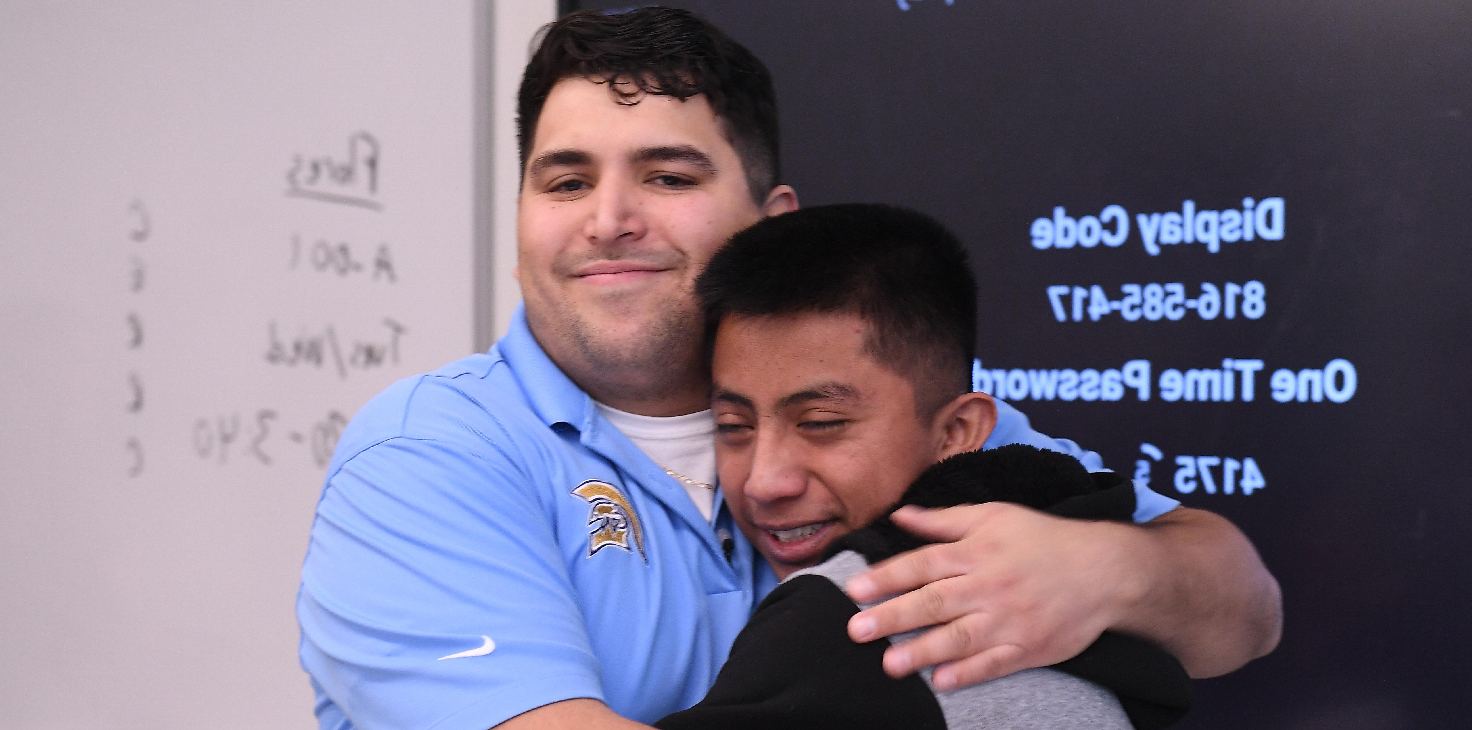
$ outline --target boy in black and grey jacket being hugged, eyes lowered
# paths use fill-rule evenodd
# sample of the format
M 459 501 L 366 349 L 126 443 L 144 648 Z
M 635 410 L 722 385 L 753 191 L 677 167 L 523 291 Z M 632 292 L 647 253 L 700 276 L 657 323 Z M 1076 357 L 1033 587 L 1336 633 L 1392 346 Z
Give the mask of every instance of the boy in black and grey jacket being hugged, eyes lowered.
M 1030 446 L 980 450 L 997 409 L 970 391 L 976 281 L 954 235 L 898 208 L 810 208 L 737 234 L 696 290 L 714 330 L 721 486 L 783 584 L 707 698 L 658 727 L 1100 730 L 1181 718 L 1185 670 L 1123 634 L 949 693 L 929 673 L 889 678 L 889 642 L 845 634 L 863 603 L 842 586 L 923 543 L 889 521 L 898 505 L 998 500 L 1122 522 L 1135 511 L 1122 475 Z

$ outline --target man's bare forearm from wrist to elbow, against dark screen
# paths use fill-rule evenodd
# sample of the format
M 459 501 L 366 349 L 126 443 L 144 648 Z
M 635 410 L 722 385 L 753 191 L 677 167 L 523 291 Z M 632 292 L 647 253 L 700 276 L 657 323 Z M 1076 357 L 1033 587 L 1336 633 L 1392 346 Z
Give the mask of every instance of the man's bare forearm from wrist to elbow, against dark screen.
M 1148 639 L 1197 678 L 1226 674 L 1266 655 L 1282 634 L 1282 596 L 1226 518 L 1178 508 L 1130 528 L 1130 574 L 1113 628 Z

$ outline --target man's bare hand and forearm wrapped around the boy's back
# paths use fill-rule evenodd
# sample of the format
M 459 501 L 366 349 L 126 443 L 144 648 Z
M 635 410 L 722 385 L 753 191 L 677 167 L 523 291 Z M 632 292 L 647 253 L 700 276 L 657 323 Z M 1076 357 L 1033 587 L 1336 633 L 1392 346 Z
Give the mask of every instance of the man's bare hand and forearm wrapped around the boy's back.
M 894 521 L 939 542 L 848 584 L 858 602 L 908 592 L 855 615 L 855 642 L 936 627 L 889 648 L 894 677 L 941 664 L 938 689 L 976 684 L 1075 656 L 1105 628 L 1158 643 L 1194 677 L 1232 671 L 1278 643 L 1278 583 L 1210 512 L 1178 508 L 1130 525 L 991 502 L 907 506 Z

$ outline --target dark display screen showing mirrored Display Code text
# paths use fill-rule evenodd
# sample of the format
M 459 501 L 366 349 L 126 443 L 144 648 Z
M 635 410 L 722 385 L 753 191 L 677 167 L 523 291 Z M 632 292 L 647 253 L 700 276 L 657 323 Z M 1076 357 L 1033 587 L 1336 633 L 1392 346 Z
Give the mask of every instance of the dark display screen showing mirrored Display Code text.
M 969 241 L 980 386 L 1259 546 L 1282 645 L 1183 727 L 1465 724 L 1472 6 L 670 4 L 773 69 L 805 205 Z

